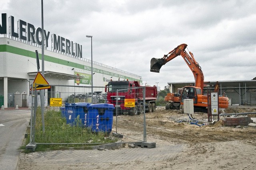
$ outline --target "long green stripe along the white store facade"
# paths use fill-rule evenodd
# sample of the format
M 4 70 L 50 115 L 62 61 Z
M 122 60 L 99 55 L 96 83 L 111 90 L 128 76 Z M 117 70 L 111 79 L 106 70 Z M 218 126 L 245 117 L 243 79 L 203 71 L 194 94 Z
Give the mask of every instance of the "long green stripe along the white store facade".
M 30 57 L 30 58 L 36 58 L 36 52 L 28 51 L 26 49 L 13 47 L 13 46 L 6 45 L 6 44 L 0 45 L 0 52 L 14 53 L 14 54 L 17 54 L 17 55 L 23 55 L 23 56 Z M 38 57 L 39 57 L 39 59 L 42 59 L 42 54 L 38 53 Z M 74 68 L 78 68 L 78 69 L 84 69 L 84 70 L 87 70 L 87 71 L 90 71 L 90 69 L 91 69 L 91 67 L 89 67 L 89 66 L 86 66 L 87 68 L 89 68 L 89 69 L 86 69 L 86 67 L 84 67 L 85 65 L 70 62 L 70 61 L 66 61 L 66 60 L 63 60 L 63 59 L 58 59 L 58 58 L 55 58 L 55 57 L 51 57 L 49 55 L 44 55 L 44 61 L 49 61 L 49 62 L 57 63 L 57 64 L 60 64 L 60 65 L 66 65 L 66 66 L 70 66 L 70 67 L 74 67 Z M 101 69 L 96 69 L 95 72 L 102 73 L 102 72 L 108 72 L 108 71 L 101 70 Z M 116 73 L 111 73 L 111 72 L 108 72 L 108 73 L 110 73 L 111 75 L 116 75 Z M 118 76 L 116 76 L 116 77 L 120 76 L 124 79 L 129 79 L 129 80 L 134 80 L 134 81 L 141 81 L 139 79 L 134 79 L 132 77 L 127 77 L 127 76 L 123 76 L 123 75 L 120 75 L 120 74 L 117 74 L 117 75 Z

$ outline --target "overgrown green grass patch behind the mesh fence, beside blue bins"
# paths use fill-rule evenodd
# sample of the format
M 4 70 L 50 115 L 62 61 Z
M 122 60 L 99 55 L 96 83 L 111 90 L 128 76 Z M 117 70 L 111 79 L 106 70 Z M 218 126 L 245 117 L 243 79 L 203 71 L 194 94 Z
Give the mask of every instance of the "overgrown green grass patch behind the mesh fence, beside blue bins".
M 118 139 L 108 137 L 106 132 L 92 132 L 82 124 L 79 115 L 72 125 L 66 124 L 66 118 L 61 111 L 49 110 L 44 112 L 45 130 L 42 129 L 41 109 L 36 111 L 35 142 L 38 144 L 36 151 L 60 150 L 69 147 L 90 149 L 92 145 L 116 142 Z M 24 140 L 25 146 L 30 143 L 30 128 L 27 129 L 28 137 Z

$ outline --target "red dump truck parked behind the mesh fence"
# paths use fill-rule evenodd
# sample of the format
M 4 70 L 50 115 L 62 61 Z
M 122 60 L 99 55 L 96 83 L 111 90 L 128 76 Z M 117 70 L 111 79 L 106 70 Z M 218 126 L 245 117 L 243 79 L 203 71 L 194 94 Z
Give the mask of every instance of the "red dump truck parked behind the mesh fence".
M 118 114 L 128 113 L 130 115 L 139 115 L 144 113 L 143 105 L 143 86 L 139 81 L 110 81 L 105 87 L 107 93 L 107 103 L 113 104 Z M 117 94 L 116 94 L 117 93 Z M 117 96 L 117 97 L 116 97 Z M 157 89 L 145 87 L 145 113 L 156 111 Z M 135 105 L 125 107 L 125 99 L 134 99 Z M 117 100 L 117 101 L 116 101 Z M 116 113 L 116 112 L 114 112 Z

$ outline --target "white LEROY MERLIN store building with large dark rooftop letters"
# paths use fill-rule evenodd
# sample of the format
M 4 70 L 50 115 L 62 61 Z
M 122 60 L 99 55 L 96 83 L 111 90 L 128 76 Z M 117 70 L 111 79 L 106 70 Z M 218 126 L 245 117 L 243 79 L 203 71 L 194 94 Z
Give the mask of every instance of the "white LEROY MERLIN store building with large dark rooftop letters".
M 16 27 L 14 23 L 18 23 Z M 7 108 L 16 105 L 27 107 L 29 105 L 30 85 L 38 73 L 36 50 L 39 53 L 40 71 L 42 67 L 40 34 L 40 28 L 35 29 L 30 23 L 23 20 L 17 22 L 13 16 L 2 14 L 2 22 L 0 22 L 0 107 Z M 46 30 L 44 30 L 44 35 L 46 37 L 44 78 L 50 85 L 91 87 L 92 72 L 93 87 L 95 87 L 93 91 L 102 91 L 102 88 L 96 87 L 104 87 L 110 79 L 142 82 L 141 76 L 82 58 L 82 45 L 78 43 L 56 36 L 56 34 L 50 36 L 50 32 Z M 50 46 L 48 42 L 51 42 L 52 47 L 48 47 Z M 47 102 L 51 97 L 56 97 L 51 96 L 55 90 L 54 87 L 45 89 Z

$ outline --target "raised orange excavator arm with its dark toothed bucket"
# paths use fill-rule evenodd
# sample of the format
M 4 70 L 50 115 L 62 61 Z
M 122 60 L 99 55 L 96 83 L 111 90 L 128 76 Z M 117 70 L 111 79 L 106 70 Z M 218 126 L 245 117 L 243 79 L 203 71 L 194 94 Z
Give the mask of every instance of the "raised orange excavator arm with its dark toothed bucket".
M 187 63 L 188 67 L 192 71 L 194 78 L 195 78 L 195 86 L 200 87 L 201 89 L 204 88 L 204 74 L 201 70 L 200 65 L 196 62 L 194 59 L 194 55 L 189 52 L 189 54 L 185 51 L 187 44 L 181 44 L 178 45 L 176 48 L 174 48 L 172 51 L 170 51 L 167 55 L 164 55 L 164 57 L 156 59 L 152 58 L 150 61 L 150 71 L 159 73 L 160 68 L 174 59 L 175 57 L 181 55 L 184 59 L 184 61 Z

